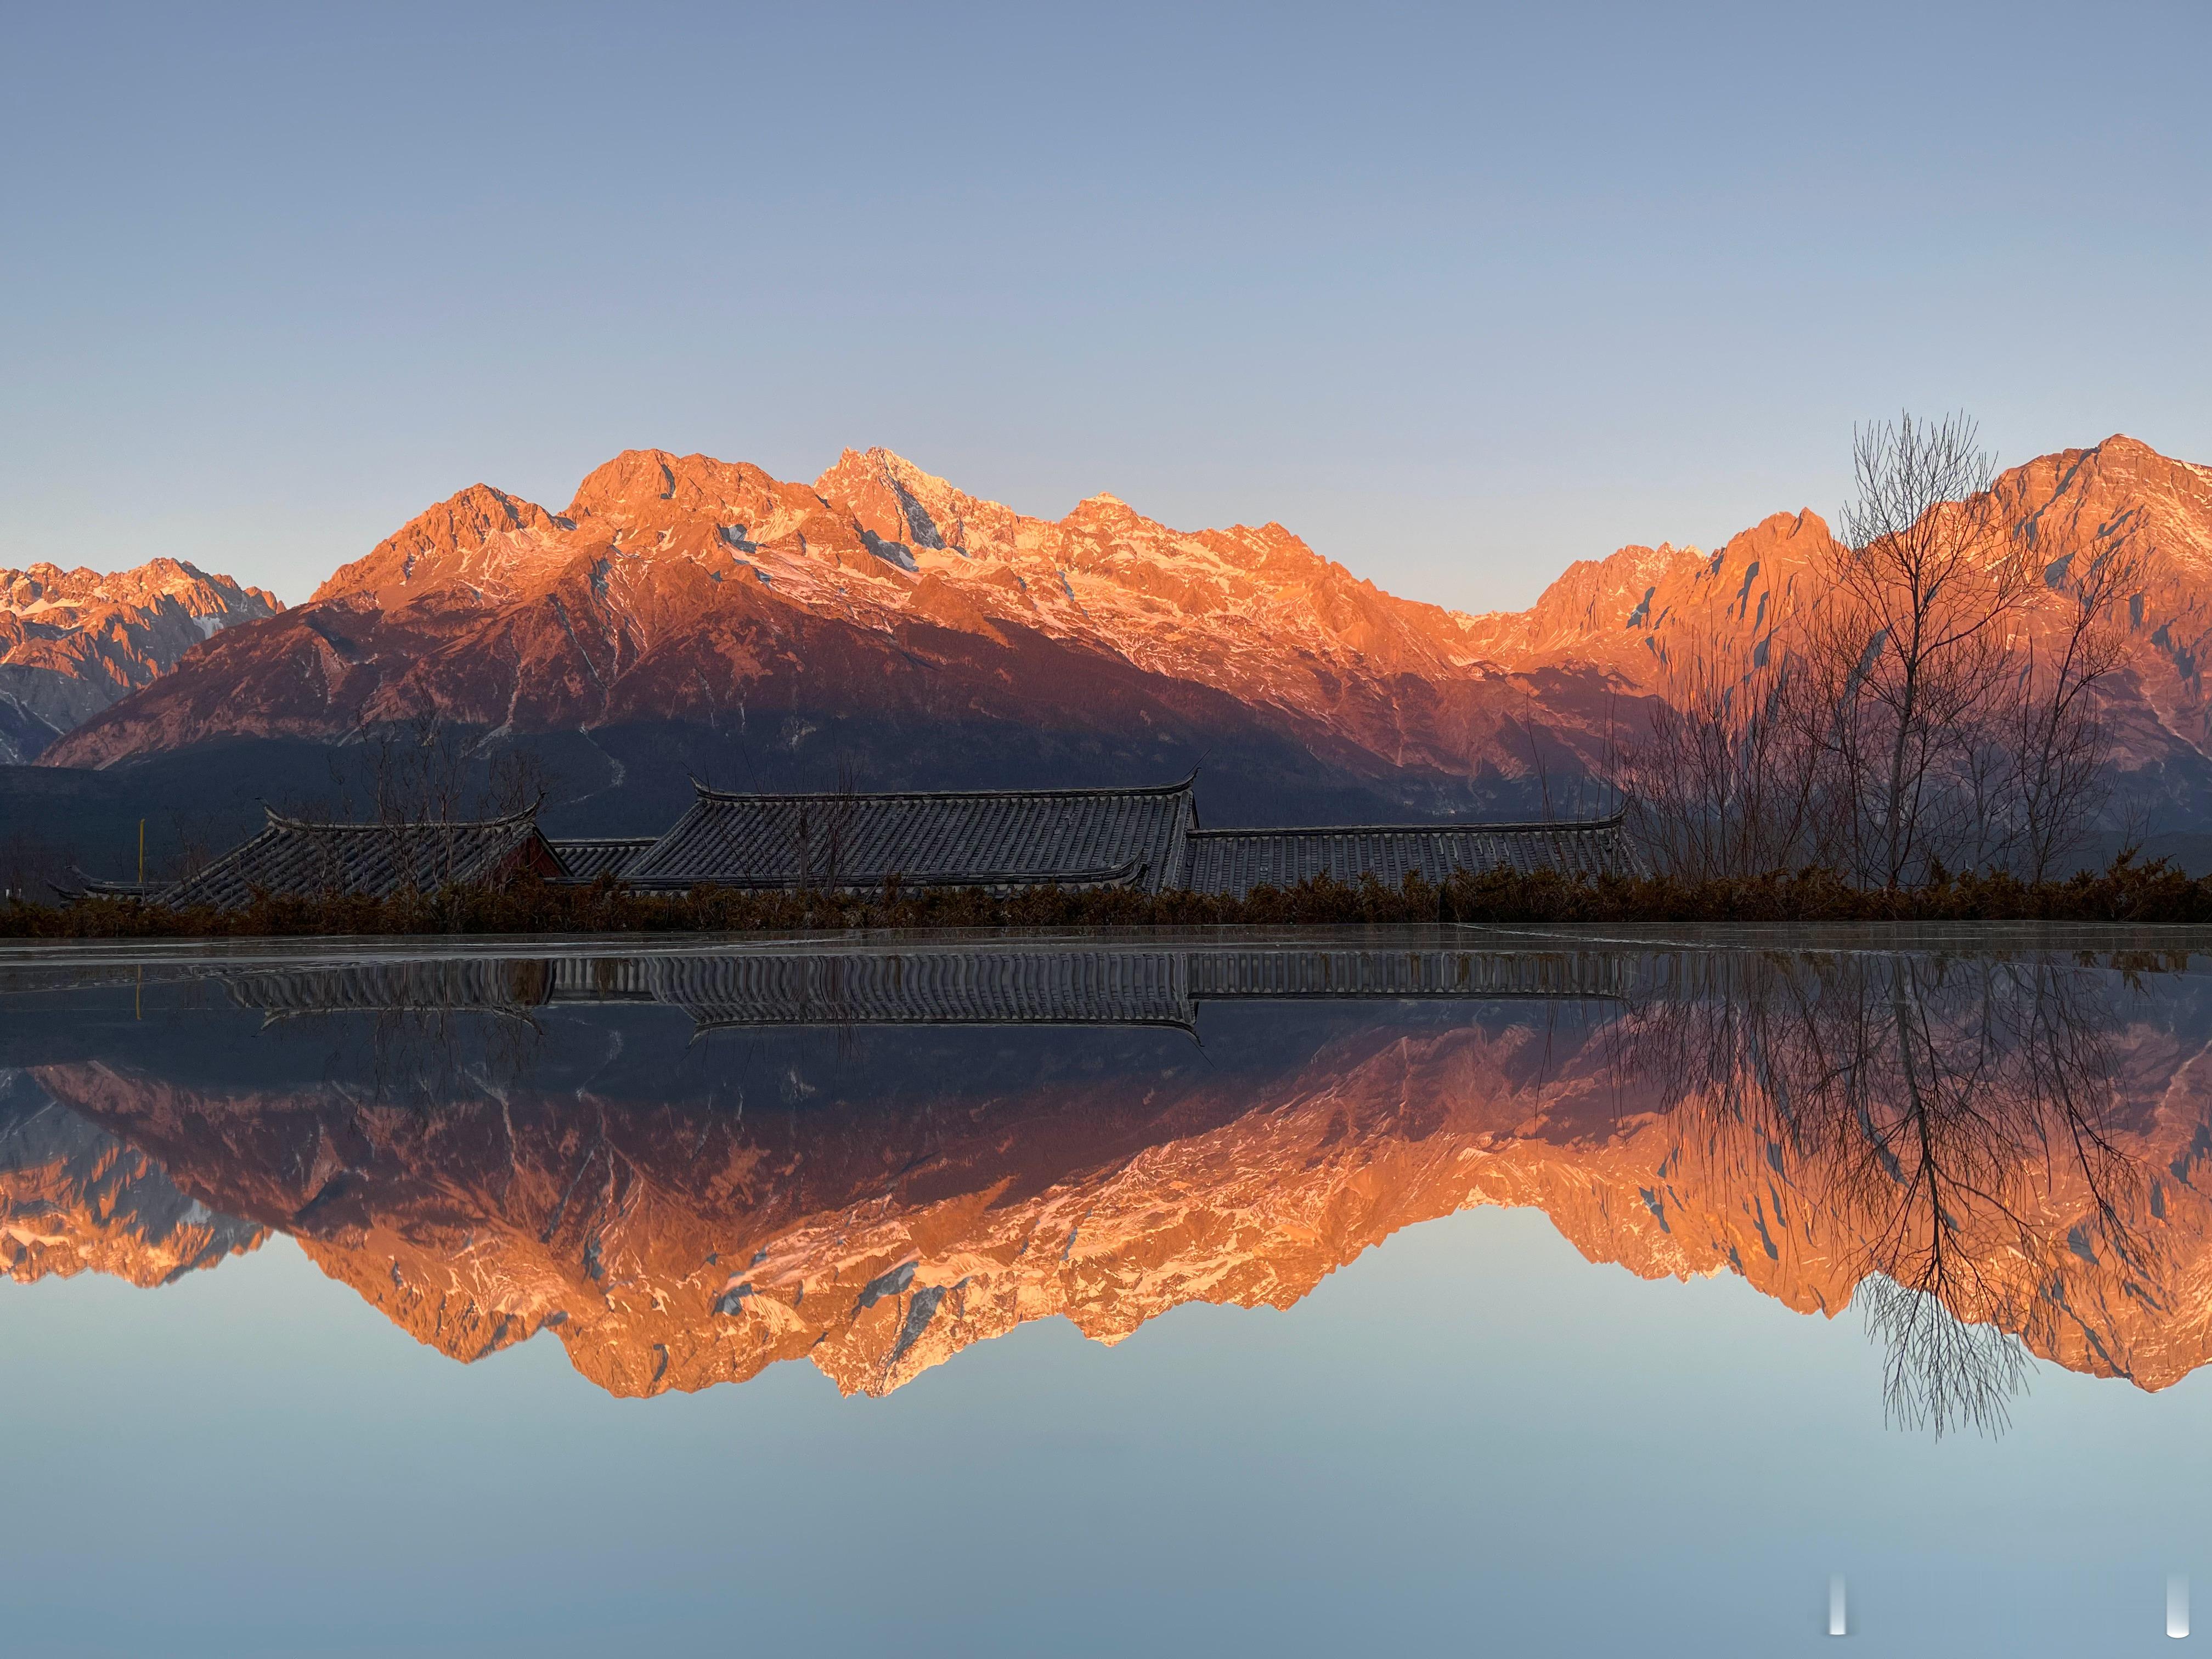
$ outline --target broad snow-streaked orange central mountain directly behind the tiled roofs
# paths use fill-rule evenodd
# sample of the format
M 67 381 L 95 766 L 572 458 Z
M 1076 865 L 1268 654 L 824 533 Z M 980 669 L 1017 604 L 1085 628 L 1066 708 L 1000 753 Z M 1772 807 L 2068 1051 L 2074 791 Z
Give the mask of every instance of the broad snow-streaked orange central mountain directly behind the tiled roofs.
M 814 487 L 630 451 L 557 515 L 462 491 L 46 759 L 436 708 L 564 743 L 593 790 L 823 783 L 838 754 L 876 785 L 1159 781 L 1212 757 L 1279 807 L 1464 807 L 1469 754 L 1520 748 L 1528 690 L 1462 633 L 1276 524 L 1183 535 L 1110 495 L 1031 520 L 885 451 Z

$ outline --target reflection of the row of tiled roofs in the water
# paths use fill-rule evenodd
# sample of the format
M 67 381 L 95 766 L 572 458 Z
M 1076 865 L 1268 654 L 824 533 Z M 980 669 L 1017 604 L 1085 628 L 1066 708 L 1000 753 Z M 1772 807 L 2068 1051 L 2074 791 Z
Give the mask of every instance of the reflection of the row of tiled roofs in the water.
M 655 1002 L 701 1031 L 805 1024 L 1168 1024 L 1203 1002 L 1613 1000 L 1621 958 L 1593 951 L 1374 947 L 754 949 L 668 956 L 356 962 L 230 971 L 272 1015 Z

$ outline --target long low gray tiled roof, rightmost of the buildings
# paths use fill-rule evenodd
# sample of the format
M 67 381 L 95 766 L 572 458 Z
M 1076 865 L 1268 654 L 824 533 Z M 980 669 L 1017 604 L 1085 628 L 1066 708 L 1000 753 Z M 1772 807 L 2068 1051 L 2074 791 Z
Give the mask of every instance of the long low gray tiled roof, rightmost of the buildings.
M 1407 874 L 1444 883 L 1455 869 L 1480 876 L 1498 865 L 1531 874 L 1632 874 L 1621 814 L 1586 823 L 1345 825 L 1312 830 L 1192 830 L 1183 885 L 1199 894 L 1296 887 L 1314 876 L 1385 887 Z

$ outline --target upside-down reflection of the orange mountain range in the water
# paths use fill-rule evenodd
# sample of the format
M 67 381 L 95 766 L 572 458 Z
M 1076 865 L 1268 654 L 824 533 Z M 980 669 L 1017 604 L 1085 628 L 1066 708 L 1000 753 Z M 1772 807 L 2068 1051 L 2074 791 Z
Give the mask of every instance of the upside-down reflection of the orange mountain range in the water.
M 1429 933 L 108 978 L 7 995 L 18 1279 L 159 1285 L 288 1234 L 420 1343 L 549 1332 L 613 1394 L 776 1360 L 883 1394 L 1035 1318 L 1115 1343 L 1290 1310 L 1469 1206 L 1856 1307 L 1936 1422 L 2002 1409 L 2022 1354 L 2143 1389 L 2212 1358 L 2188 951 Z

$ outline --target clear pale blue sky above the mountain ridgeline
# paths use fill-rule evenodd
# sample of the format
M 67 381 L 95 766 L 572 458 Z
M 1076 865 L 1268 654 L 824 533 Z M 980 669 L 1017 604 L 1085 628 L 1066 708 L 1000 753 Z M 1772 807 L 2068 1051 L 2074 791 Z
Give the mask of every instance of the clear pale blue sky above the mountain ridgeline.
M 1854 418 L 2212 462 L 2212 9 L 4 7 L 0 564 L 889 445 L 1520 606 Z

